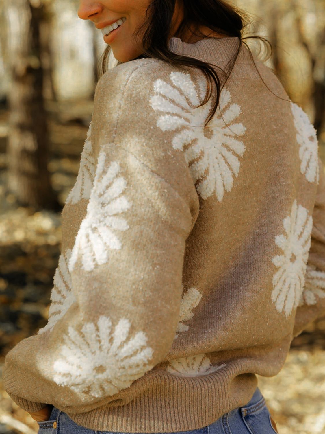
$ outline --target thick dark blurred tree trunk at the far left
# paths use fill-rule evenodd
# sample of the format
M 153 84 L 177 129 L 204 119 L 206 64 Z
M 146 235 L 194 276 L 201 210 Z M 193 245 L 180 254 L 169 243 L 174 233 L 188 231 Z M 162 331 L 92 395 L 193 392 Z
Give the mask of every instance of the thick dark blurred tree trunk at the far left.
M 43 11 L 42 5 L 33 7 L 28 0 L 7 3 L 12 77 L 8 188 L 22 205 L 59 210 L 47 170 L 48 129 L 39 37 Z

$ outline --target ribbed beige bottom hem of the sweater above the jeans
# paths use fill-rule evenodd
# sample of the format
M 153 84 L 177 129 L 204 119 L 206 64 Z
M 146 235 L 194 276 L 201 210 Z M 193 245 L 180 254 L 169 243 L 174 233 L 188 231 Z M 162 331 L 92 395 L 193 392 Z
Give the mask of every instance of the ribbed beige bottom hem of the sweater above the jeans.
M 227 411 L 247 404 L 253 396 L 256 375 L 232 374 L 220 370 L 218 376 L 191 378 L 161 372 L 150 378 L 148 389 L 128 404 L 66 414 L 77 424 L 95 431 L 155 433 L 199 429 Z M 234 391 L 233 396 L 230 391 Z

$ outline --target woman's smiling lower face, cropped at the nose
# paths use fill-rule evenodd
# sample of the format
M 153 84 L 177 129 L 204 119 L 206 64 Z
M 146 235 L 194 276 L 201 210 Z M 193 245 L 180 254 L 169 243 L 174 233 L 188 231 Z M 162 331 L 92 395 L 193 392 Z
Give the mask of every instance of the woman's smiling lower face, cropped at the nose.
M 146 20 L 146 9 L 151 0 L 79 0 L 78 16 L 82 20 L 90 20 L 98 29 L 107 25 L 123 22 L 109 35 L 103 35 L 104 41 L 110 45 L 115 59 L 128 62 L 143 53 L 141 43 L 134 39 L 134 31 Z M 172 23 L 172 32 L 181 21 L 179 1 L 176 1 Z M 116 26 L 116 24 L 114 24 Z M 98 30 L 100 32 L 101 30 Z M 172 33 L 171 32 L 171 33 Z M 173 33 L 172 33 L 173 34 Z M 141 41 L 142 35 L 139 40 Z

